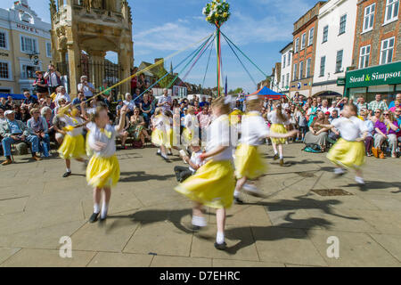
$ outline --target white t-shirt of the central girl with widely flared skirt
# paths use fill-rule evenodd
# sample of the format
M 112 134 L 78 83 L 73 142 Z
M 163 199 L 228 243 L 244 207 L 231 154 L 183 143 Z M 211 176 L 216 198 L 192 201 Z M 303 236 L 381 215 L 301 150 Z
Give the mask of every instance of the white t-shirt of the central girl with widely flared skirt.
M 213 159 L 214 161 L 232 160 L 233 159 L 233 145 L 230 140 L 230 122 L 227 115 L 222 115 L 216 118 L 208 128 L 208 144 L 206 151 L 212 151 L 220 146 L 226 146 L 225 151 L 211 157 L 207 160 Z

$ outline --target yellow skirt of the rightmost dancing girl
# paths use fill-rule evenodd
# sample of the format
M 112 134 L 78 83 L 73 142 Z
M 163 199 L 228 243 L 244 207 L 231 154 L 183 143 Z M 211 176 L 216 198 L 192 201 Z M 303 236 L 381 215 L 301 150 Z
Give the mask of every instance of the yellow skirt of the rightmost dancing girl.
M 364 165 L 364 142 L 348 142 L 340 138 L 331 147 L 327 159 L 342 167 L 361 167 Z

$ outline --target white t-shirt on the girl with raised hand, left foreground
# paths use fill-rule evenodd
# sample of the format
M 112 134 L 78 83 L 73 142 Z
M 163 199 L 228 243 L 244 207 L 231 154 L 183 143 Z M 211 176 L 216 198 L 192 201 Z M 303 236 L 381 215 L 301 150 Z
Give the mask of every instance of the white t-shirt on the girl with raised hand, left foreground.
M 107 125 L 104 130 L 101 130 L 95 124 L 87 126 L 89 129 L 89 147 L 94 151 L 94 142 L 102 142 L 106 144 L 106 147 L 102 151 L 94 151 L 94 155 L 110 158 L 116 153 L 116 135 L 118 126 Z

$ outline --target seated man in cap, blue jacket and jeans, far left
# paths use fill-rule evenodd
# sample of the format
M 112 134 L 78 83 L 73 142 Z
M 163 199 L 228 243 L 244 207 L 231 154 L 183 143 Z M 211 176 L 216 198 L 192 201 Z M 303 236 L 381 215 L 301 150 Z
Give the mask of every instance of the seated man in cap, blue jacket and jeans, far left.
M 36 134 L 32 134 L 28 126 L 19 120 L 15 119 L 13 110 L 6 110 L 4 112 L 5 121 L 0 123 L 0 135 L 4 137 L 2 146 L 6 160 L 2 165 L 12 163 L 11 159 L 11 145 L 16 142 L 28 142 L 31 145 L 32 159 L 38 161 L 42 160 L 37 157 L 39 151 L 39 138 Z

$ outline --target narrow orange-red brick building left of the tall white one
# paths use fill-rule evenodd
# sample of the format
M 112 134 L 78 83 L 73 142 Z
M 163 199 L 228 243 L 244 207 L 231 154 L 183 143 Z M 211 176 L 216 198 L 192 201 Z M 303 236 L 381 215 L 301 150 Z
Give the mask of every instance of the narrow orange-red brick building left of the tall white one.
M 318 2 L 294 23 L 291 97 L 296 92 L 307 97 L 312 95 L 318 15 L 325 3 L 325 1 Z

